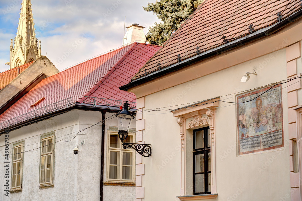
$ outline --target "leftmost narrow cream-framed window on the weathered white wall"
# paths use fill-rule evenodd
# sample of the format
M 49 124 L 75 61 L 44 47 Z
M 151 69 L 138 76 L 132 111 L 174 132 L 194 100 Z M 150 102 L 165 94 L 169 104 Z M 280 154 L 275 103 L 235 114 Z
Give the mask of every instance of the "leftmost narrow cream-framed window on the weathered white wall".
M 13 169 L 11 174 L 11 190 L 22 188 L 22 158 L 23 144 L 13 147 Z

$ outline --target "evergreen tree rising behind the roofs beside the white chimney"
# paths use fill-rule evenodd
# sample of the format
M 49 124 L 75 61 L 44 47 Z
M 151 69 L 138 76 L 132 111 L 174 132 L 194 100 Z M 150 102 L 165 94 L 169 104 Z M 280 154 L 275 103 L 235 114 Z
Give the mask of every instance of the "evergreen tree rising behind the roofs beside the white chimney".
M 162 45 L 180 27 L 182 23 L 197 9 L 204 0 L 159 0 L 148 3 L 143 9 L 156 14 L 163 23 L 154 23 L 146 35 L 151 44 Z

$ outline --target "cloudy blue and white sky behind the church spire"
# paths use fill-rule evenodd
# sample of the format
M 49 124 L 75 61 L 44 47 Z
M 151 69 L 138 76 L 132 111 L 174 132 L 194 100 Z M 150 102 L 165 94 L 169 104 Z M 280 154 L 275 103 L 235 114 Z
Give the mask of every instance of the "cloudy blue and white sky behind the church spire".
M 153 13 L 143 10 L 155 0 L 32 0 L 36 37 L 42 55 L 60 71 L 122 46 L 126 27 L 138 23 L 148 28 Z M 22 0 L 0 0 L 0 72 L 9 69 L 10 39 L 14 38 Z M 126 30 L 125 30 L 126 31 Z M 72 53 L 68 51 L 72 49 Z

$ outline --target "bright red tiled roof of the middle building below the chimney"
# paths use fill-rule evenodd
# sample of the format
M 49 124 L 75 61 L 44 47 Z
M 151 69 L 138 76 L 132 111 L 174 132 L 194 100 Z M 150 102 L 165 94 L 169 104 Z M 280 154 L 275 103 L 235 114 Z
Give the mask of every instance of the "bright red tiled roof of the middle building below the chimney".
M 120 91 L 160 46 L 133 43 L 90 59 L 43 79 L 0 115 L 0 123 L 55 102 L 72 97 L 82 103 L 84 96 L 136 101 L 134 94 Z M 147 58 L 141 55 L 148 55 Z M 30 107 L 45 97 L 36 107 Z

